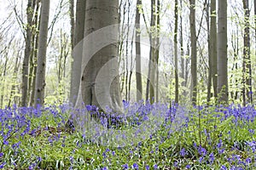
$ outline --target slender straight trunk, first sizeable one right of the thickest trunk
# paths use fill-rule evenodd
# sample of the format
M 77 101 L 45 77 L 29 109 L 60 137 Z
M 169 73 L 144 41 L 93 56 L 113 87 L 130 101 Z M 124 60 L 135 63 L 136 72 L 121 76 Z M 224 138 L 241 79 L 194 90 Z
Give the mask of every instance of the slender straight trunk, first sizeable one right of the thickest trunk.
M 143 82 L 142 82 L 142 70 L 141 70 L 141 35 L 140 35 L 140 20 L 141 14 L 139 11 L 142 0 L 137 0 L 137 8 L 135 15 L 136 24 L 136 37 L 135 37 L 135 48 L 136 48 L 136 87 L 137 87 L 137 101 L 143 99 Z

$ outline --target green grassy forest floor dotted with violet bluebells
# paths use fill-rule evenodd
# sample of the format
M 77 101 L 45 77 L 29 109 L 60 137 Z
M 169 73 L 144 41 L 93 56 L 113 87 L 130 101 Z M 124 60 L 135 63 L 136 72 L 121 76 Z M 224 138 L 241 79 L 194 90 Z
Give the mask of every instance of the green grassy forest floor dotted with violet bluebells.
M 68 105 L 50 105 L 44 110 L 39 106 L 14 105 L 0 110 L 0 168 L 256 168 L 253 106 L 166 107 L 126 103 L 125 111 L 129 115 L 128 123 L 115 128 L 138 127 L 154 112 L 161 112 L 165 118 L 148 139 L 114 147 L 90 142 L 84 133 L 67 131 L 65 122 L 73 112 Z M 97 110 L 91 112 L 98 114 Z

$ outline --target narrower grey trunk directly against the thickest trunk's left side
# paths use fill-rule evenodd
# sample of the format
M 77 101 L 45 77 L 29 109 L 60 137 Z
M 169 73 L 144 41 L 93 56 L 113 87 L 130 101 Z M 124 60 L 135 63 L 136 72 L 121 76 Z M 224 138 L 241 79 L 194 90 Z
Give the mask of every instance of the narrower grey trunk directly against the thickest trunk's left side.
M 84 24 L 85 24 L 85 7 L 86 0 L 78 0 L 76 4 L 76 20 L 74 31 L 74 47 L 79 44 L 84 38 Z M 82 45 L 83 43 L 81 43 Z M 85 50 L 85 49 L 84 49 Z M 71 71 L 71 85 L 70 85 L 70 102 L 75 105 L 79 94 L 79 84 L 81 79 L 81 64 L 82 64 L 82 51 L 77 50 L 76 54 L 73 53 L 73 63 Z

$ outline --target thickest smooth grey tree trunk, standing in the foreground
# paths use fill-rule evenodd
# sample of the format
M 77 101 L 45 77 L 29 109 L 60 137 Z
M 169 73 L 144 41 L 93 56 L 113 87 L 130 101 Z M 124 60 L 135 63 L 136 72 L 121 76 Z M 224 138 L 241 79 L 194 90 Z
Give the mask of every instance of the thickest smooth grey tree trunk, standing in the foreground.
M 113 112 L 121 111 L 121 96 L 119 90 L 119 63 L 118 63 L 118 32 L 119 28 L 119 1 L 118 0 L 87 0 L 84 37 L 93 35 L 101 28 L 111 26 L 111 32 L 104 31 L 102 36 L 109 37 L 108 44 L 89 56 L 90 50 L 96 47 L 89 42 L 83 48 L 84 59 L 90 59 L 88 64 L 83 64 L 80 92 L 84 105 L 96 105 L 104 110 L 106 106 Z M 108 35 L 107 35 L 108 34 Z M 103 38 L 103 37 L 102 37 Z M 93 39 L 93 41 L 96 41 Z M 114 78 L 113 78 L 114 77 Z M 110 82 L 111 81 L 111 82 Z M 110 87 L 108 87 L 110 83 Z M 77 105 L 78 104 L 77 102 Z

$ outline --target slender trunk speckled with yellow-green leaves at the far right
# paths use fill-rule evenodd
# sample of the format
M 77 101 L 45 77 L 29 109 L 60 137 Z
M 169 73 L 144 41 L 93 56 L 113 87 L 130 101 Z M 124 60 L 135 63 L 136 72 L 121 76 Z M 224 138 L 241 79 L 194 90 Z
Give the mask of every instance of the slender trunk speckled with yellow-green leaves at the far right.
M 249 2 L 248 0 L 243 0 L 243 9 L 244 9 L 244 37 L 243 37 L 243 88 L 242 88 L 242 98 L 243 105 L 247 103 L 253 103 L 253 94 L 252 94 L 252 65 L 251 65 L 251 55 L 250 55 L 250 11 L 249 11 Z

